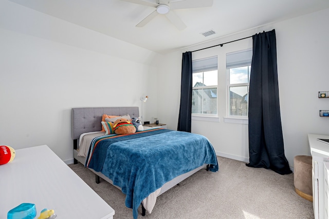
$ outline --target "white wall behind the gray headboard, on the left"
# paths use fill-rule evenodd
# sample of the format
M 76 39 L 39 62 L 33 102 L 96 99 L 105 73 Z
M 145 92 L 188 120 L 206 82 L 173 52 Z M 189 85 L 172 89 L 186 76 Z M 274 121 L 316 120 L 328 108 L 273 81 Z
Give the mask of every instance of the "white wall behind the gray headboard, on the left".
M 141 107 L 148 94 L 145 120 L 157 116 L 154 52 L 8 1 L 0 48 L 1 145 L 46 144 L 70 163 L 71 108 Z

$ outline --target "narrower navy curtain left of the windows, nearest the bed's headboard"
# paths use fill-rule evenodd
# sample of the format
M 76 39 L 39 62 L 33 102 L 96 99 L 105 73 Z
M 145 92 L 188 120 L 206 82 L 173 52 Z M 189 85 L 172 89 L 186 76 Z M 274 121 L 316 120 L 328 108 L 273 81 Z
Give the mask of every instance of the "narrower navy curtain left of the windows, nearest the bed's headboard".
M 185 52 L 181 61 L 180 107 L 178 131 L 191 132 L 192 113 L 192 52 Z

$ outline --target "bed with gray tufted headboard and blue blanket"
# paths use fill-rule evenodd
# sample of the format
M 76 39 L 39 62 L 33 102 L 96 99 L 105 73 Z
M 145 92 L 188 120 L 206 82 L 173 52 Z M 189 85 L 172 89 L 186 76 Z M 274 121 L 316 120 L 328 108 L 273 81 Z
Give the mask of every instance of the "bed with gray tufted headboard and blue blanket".
M 120 189 L 125 205 L 152 212 L 156 197 L 200 169 L 218 170 L 212 145 L 206 137 L 162 128 L 116 135 L 101 132 L 102 116 L 138 117 L 138 107 L 72 108 L 71 137 L 75 164 L 80 162 Z M 104 125 L 104 124 L 103 124 Z M 83 144 L 82 144 L 83 143 Z M 82 146 L 85 145 L 85 146 Z M 165 165 L 164 165 L 165 164 Z

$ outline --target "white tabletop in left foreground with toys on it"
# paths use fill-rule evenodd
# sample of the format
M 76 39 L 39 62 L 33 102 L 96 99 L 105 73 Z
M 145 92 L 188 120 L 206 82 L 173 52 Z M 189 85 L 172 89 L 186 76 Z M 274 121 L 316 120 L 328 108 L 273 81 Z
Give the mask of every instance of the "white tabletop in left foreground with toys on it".
M 16 150 L 0 165 L 0 218 L 22 203 L 35 204 L 57 218 L 112 219 L 114 210 L 46 145 Z

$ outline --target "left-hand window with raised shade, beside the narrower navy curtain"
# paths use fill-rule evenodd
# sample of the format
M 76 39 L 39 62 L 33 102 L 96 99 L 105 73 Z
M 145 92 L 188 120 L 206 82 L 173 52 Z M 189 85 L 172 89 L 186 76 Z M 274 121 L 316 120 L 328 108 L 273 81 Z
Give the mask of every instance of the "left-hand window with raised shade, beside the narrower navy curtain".
M 217 56 L 192 62 L 192 115 L 217 116 Z

